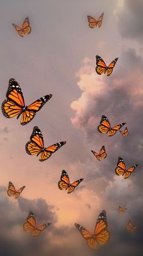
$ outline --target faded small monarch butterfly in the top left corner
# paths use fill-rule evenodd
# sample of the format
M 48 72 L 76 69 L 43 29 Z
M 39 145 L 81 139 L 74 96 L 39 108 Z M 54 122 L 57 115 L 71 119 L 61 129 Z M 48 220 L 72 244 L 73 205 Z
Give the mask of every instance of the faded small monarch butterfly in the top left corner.
M 12 25 L 16 29 L 16 31 L 18 32 L 19 36 L 21 36 L 21 37 L 24 37 L 24 35 L 26 35 L 26 34 L 28 35 L 31 32 L 29 17 L 25 18 L 22 28 L 20 28 L 19 26 L 17 26 L 14 23 L 12 23 Z

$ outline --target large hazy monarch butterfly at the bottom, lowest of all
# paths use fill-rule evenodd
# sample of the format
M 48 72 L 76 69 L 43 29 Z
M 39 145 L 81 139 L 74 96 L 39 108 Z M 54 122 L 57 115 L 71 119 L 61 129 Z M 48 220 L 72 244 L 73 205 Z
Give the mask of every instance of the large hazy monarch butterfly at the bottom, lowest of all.
M 106 221 L 106 211 L 104 210 L 99 214 L 93 235 L 80 224 L 75 223 L 75 227 L 83 238 L 86 239 L 91 249 L 97 249 L 98 246 L 106 244 L 110 239 L 110 232 L 108 232 L 108 224 Z

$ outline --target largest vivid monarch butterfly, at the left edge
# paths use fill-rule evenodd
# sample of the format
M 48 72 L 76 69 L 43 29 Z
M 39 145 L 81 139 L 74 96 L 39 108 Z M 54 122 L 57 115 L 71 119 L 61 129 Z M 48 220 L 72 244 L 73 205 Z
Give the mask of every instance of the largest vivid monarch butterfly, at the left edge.
M 11 78 L 9 80 L 9 88 L 6 94 L 7 99 L 2 102 L 2 114 L 5 118 L 13 118 L 13 116 L 21 116 L 21 125 L 24 126 L 32 121 L 36 113 L 51 99 L 52 94 L 41 97 L 29 106 L 24 104 L 23 92 L 18 82 Z

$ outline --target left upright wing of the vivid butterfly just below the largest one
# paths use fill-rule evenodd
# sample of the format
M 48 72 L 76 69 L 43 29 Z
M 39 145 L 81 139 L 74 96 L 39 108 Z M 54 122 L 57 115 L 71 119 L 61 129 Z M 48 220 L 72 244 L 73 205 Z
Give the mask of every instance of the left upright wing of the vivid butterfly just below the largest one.
M 41 130 L 35 126 L 33 127 L 32 135 L 30 136 L 30 141 L 26 143 L 26 152 L 29 155 L 40 154 L 41 150 L 44 148 L 44 140 Z

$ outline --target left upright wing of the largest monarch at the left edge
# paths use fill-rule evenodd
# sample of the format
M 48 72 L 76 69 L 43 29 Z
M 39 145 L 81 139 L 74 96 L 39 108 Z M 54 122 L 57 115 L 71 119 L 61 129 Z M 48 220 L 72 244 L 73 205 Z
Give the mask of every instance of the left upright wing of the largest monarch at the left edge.
M 2 114 L 5 118 L 13 118 L 13 116 L 21 115 L 24 104 L 23 92 L 21 91 L 18 82 L 11 78 L 9 80 L 9 88 L 6 94 L 7 99 L 2 102 Z

